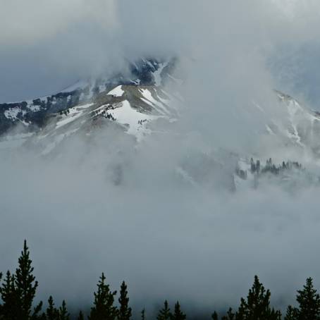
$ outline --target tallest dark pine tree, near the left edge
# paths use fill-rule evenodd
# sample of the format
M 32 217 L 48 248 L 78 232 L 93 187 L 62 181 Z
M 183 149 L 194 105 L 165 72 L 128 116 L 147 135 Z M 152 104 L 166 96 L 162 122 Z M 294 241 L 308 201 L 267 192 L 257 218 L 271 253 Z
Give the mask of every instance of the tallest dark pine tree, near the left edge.
M 19 320 L 36 319 L 37 314 L 41 311 L 42 302 L 37 304 L 32 312 L 32 304 L 35 299 L 38 282 L 32 274 L 32 260 L 28 251 L 27 241 L 23 245 L 23 251 L 18 259 L 18 269 L 16 269 L 15 285 L 19 297 Z

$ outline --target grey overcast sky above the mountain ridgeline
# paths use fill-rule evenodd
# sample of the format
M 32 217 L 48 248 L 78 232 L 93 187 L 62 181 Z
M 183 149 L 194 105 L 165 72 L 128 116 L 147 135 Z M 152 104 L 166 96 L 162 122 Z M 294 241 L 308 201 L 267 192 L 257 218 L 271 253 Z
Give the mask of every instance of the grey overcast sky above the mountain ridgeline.
M 264 51 L 276 87 L 317 106 L 319 6 L 316 0 L 1 0 L 0 101 L 57 92 L 121 68 L 124 57 L 195 56 L 223 36 L 226 54 L 239 49 L 237 39 Z

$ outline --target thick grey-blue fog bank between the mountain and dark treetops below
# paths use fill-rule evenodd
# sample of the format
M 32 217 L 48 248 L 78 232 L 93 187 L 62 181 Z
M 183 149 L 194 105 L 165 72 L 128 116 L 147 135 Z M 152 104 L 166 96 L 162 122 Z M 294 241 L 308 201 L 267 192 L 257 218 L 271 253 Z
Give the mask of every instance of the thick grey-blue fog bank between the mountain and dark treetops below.
M 26 238 L 39 297 L 87 305 L 105 271 L 149 312 L 166 298 L 192 311 L 236 305 L 256 273 L 279 307 L 307 276 L 319 285 L 319 189 L 185 184 L 176 167 L 197 154 L 193 141 L 152 137 L 135 149 L 125 133 L 103 130 L 55 159 L 2 156 L 1 269 L 16 266 Z

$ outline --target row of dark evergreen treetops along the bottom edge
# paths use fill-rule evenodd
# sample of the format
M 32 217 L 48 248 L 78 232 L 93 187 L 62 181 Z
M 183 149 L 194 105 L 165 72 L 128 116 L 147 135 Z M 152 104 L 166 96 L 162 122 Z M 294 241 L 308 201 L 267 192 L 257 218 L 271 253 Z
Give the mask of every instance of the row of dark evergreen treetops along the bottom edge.
M 71 320 L 67 304 L 63 300 L 61 306 L 56 307 L 53 297 L 49 297 L 47 307 L 42 302 L 35 304 L 38 282 L 33 275 L 32 260 L 27 242 L 24 242 L 23 251 L 18 259 L 18 268 L 14 273 L 0 273 L 0 320 Z M 106 276 L 101 274 L 90 312 L 87 316 L 79 311 L 77 320 L 130 320 L 133 312 L 129 304 L 128 288 L 125 282 L 121 284 L 118 304 L 116 304 L 116 291 L 111 290 L 106 283 Z M 214 312 L 212 320 L 320 320 L 320 297 L 314 288 L 312 278 L 307 278 L 302 290 L 297 291 L 297 307 L 288 306 L 286 313 L 271 307 L 270 290 L 266 290 L 259 278 L 254 276 L 254 283 L 246 298 L 241 298 L 240 306 L 235 311 L 230 308 L 228 312 L 219 315 Z M 164 301 L 158 314 L 149 319 L 156 320 L 185 320 L 187 315 L 183 312 L 177 301 L 173 309 L 168 301 Z M 147 320 L 145 309 L 140 312 L 140 319 Z

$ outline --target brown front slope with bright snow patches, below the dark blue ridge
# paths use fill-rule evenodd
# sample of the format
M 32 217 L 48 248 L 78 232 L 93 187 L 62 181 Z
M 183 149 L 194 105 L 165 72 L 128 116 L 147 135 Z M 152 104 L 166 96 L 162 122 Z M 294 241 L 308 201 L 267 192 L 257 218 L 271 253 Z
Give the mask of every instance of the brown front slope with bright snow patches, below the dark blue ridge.
M 168 101 L 168 96 L 160 88 L 120 85 L 99 93 L 88 104 L 51 114 L 47 125 L 37 133 L 37 141 L 46 144 L 42 154 L 48 154 L 69 135 L 80 131 L 89 135 L 96 126 L 110 123 L 140 141 L 149 133 L 150 121 L 168 118 L 169 106 L 164 101 Z

